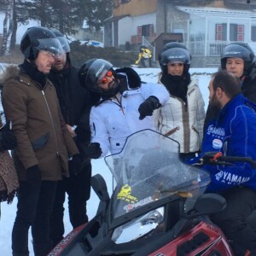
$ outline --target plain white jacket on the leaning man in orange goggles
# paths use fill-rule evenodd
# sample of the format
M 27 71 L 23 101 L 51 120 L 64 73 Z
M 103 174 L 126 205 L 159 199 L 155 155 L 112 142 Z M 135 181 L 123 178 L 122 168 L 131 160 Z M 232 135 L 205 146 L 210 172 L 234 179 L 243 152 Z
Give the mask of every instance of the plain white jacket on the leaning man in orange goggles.
M 165 86 L 142 84 L 137 89 L 125 90 L 119 99 L 110 99 L 90 110 L 91 143 L 100 143 L 102 156 L 119 153 L 128 136 L 136 131 L 154 128 L 152 116 L 139 119 L 138 108 L 148 96 L 156 96 L 162 105 L 169 98 Z M 101 156 L 101 157 L 102 157 Z

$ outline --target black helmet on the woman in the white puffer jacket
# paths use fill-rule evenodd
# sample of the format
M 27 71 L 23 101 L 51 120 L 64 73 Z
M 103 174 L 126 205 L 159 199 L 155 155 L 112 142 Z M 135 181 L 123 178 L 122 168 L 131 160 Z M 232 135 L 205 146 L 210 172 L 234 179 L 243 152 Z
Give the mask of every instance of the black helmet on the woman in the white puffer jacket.
M 160 54 L 160 67 L 163 73 L 167 73 L 168 62 L 181 62 L 184 65 L 183 73 L 189 72 L 190 67 L 189 50 L 184 47 L 166 49 Z

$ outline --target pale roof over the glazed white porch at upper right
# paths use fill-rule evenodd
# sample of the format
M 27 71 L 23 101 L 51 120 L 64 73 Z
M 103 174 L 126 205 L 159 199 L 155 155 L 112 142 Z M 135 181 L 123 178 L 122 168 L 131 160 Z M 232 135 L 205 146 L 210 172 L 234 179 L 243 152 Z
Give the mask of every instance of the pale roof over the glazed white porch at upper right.
M 226 8 L 213 8 L 213 7 L 190 7 L 190 6 L 176 6 L 177 9 L 189 14 L 197 15 L 200 17 L 236 17 L 246 19 L 256 19 L 256 9 L 226 9 Z

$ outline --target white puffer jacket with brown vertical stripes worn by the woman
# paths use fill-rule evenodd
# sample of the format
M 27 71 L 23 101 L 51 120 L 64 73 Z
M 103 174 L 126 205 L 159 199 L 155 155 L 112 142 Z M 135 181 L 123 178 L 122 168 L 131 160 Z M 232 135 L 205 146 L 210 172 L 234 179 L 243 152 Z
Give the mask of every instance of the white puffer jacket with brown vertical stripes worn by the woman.
M 164 86 L 164 85 L 162 85 Z M 196 152 L 201 149 L 205 103 L 197 81 L 192 79 L 187 92 L 188 106 L 183 100 L 170 96 L 165 106 L 156 113 L 158 130 L 180 143 L 180 152 Z

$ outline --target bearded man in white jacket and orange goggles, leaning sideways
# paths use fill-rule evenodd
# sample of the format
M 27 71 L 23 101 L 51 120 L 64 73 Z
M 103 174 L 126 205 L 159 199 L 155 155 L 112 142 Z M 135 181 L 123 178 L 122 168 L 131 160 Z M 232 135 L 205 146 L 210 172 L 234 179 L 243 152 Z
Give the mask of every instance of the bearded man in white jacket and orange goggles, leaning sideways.
M 169 98 L 164 86 L 143 83 L 131 67 L 114 71 L 112 64 L 102 59 L 86 61 L 79 79 L 88 90 L 101 96 L 90 110 L 90 144 L 100 145 L 102 154 L 98 157 L 108 154 L 108 150 L 119 153 L 132 133 L 154 129 L 154 109 Z M 91 145 L 89 148 L 93 148 Z

